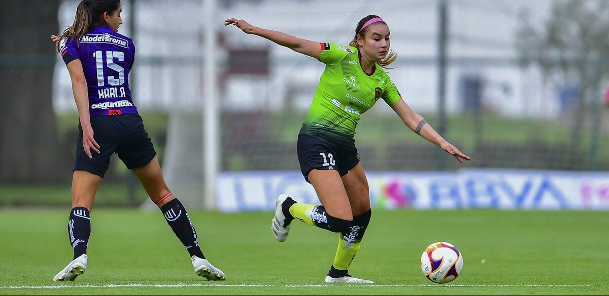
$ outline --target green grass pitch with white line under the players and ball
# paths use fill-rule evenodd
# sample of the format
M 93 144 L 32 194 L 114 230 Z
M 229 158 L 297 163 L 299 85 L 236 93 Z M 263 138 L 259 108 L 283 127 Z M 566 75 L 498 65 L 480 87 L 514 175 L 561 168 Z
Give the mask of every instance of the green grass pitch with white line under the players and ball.
M 97 209 L 85 274 L 55 283 L 72 258 L 68 209 L 0 209 L 0 294 L 12 295 L 607 295 L 607 212 L 395 210 L 373 212 L 350 274 L 368 286 L 326 285 L 337 235 L 295 222 L 284 243 L 270 212 L 192 211 L 203 252 L 227 274 L 207 282 L 160 212 Z M 423 277 L 435 241 L 463 254 L 450 284 Z

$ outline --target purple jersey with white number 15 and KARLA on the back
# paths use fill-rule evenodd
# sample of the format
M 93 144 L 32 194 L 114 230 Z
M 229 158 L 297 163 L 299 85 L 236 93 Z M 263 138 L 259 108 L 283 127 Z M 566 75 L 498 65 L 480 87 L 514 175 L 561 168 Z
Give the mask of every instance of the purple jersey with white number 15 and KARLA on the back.
M 128 82 L 135 59 L 132 39 L 99 25 L 81 36 L 80 42 L 68 38 L 60 53 L 66 64 L 74 59 L 82 63 L 91 116 L 138 113 Z

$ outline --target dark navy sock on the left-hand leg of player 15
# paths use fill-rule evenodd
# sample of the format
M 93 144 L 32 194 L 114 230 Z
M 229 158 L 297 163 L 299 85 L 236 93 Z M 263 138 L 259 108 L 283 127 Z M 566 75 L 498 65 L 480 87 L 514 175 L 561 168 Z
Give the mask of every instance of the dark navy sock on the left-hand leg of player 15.
M 86 254 L 86 247 L 89 245 L 91 235 L 91 216 L 86 207 L 72 208 L 70 221 L 68 222 L 68 234 L 70 244 L 74 249 L 74 259 Z

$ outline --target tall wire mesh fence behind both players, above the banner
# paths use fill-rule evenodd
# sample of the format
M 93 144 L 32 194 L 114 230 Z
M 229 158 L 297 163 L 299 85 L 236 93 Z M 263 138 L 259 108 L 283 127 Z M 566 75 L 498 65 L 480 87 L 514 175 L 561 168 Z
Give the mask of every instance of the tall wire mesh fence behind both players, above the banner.
M 0 52 L 0 183 L 67 183 L 76 107 L 68 72 L 48 35 L 71 24 L 78 2 L 31 2 L 7 2 L 0 21 L 10 36 Z M 473 157 L 465 167 L 609 169 L 604 73 L 588 76 L 590 83 L 573 82 L 544 72 L 538 62 L 519 63 L 521 10 L 531 8 L 533 25 L 543 27 L 555 2 L 217 1 L 211 30 L 202 18 L 204 4 L 123 1 L 119 33 L 132 37 L 137 49 L 134 101 L 151 114 L 144 121 L 170 185 L 203 192 L 206 32 L 215 40 L 219 170 L 298 169 L 295 141 L 323 64 L 224 27 L 230 17 L 347 44 L 359 19 L 381 15 L 398 53 L 389 75 L 413 109 Z M 410 132 L 384 103 L 377 105 L 362 116 L 356 136 L 367 170 L 463 167 Z M 27 156 L 15 152 L 23 149 L 29 149 Z M 122 182 L 121 166 L 113 163 L 110 181 Z

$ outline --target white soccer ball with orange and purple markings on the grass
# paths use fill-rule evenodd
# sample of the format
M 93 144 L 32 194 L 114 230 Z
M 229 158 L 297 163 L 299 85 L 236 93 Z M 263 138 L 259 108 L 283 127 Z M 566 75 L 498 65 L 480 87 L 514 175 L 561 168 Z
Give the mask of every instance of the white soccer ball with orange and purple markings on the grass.
M 421 271 L 434 283 L 445 284 L 454 280 L 462 268 L 461 252 L 444 241 L 430 244 L 421 255 Z

